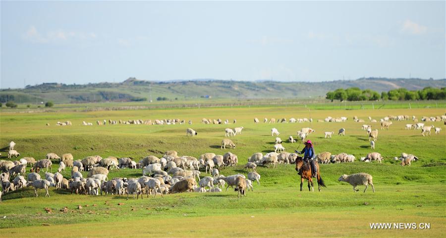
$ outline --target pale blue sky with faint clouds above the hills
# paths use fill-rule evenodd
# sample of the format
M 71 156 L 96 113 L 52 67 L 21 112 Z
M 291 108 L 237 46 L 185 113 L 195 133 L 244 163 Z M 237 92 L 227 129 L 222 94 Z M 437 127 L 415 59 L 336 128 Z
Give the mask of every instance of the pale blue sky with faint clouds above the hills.
M 445 78 L 446 1 L 1 1 L 0 87 Z

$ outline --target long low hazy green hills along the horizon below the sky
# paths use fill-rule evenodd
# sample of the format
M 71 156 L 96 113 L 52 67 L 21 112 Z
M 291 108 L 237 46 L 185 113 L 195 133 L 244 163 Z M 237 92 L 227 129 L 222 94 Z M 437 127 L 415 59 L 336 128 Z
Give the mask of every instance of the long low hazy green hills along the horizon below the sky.
M 316 98 L 325 97 L 328 91 L 337 88 L 358 87 L 378 92 L 400 87 L 417 90 L 424 87 L 446 87 L 446 79 L 419 78 L 359 78 L 327 82 L 278 82 L 278 81 L 232 81 L 196 79 L 184 81 L 154 82 L 128 78 L 121 83 L 89 83 L 65 85 L 43 83 L 25 89 L 2 89 L 0 101 L 17 103 L 53 101 L 55 103 L 103 102 L 103 101 L 155 101 L 158 97 L 167 100 L 211 98 Z

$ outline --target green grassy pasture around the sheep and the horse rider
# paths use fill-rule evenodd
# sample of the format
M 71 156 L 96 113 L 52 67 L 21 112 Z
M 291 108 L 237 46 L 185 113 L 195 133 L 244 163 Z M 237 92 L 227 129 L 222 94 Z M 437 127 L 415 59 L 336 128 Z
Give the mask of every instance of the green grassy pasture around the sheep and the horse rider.
M 108 104 L 95 105 L 107 107 Z M 125 104 L 127 105 L 127 104 Z M 388 115 L 439 116 L 446 113 L 445 102 L 420 102 L 411 109 L 408 103 L 392 103 L 386 109 L 367 103 L 361 104 L 285 104 L 224 107 L 171 107 L 121 111 L 77 111 L 69 106 L 57 106 L 54 112 L 26 113 L 26 109 L 0 111 L 1 159 L 7 159 L 7 144 L 13 140 L 22 157 L 45 158 L 47 153 L 72 153 L 74 159 L 100 155 L 131 157 L 135 161 L 147 155 L 161 157 L 167 150 L 179 155 L 199 157 L 213 152 L 231 151 L 239 158 L 239 165 L 221 170 L 228 176 L 247 174 L 243 165 L 253 153 L 274 150 L 276 136 L 271 128 L 280 131 L 283 141 L 296 135 L 302 127 L 310 126 L 316 153 L 345 152 L 356 159 L 370 153 L 363 123 L 353 116 L 368 121 Z M 421 105 L 421 106 L 420 106 Z M 116 104 L 119 107 L 120 104 Z M 344 106 L 344 107 L 342 107 Z M 77 106 L 76 106 L 77 107 Z M 160 106 L 162 107 L 162 106 Z M 82 108 L 82 107 L 79 107 Z M 364 108 L 363 110 L 360 110 Z M 351 110 L 345 110 L 351 109 Z M 348 117 L 346 122 L 317 122 L 317 119 Z M 257 117 L 261 123 L 255 124 Z M 313 118 L 306 123 L 263 123 L 263 118 Z M 128 119 L 185 119 L 192 125 L 96 125 L 96 120 Z M 229 125 L 205 125 L 202 118 L 229 119 Z M 237 119 L 236 124 L 232 120 Z M 71 120 L 72 126 L 56 126 L 57 121 Z M 82 121 L 93 122 L 83 126 Z M 50 126 L 46 126 L 50 123 Z M 368 123 L 368 122 L 365 122 Z M 51 197 L 33 196 L 31 188 L 13 191 L 2 196 L 0 204 L 1 237 L 43 237 L 63 234 L 64 237 L 444 237 L 446 232 L 446 132 L 443 122 L 428 122 L 442 127 L 440 134 L 422 137 L 420 130 L 405 130 L 406 123 L 393 121 L 389 130 L 380 130 L 376 151 L 385 160 L 383 164 L 341 163 L 321 165 L 321 175 L 327 188 L 309 192 L 306 184 L 299 191 L 300 177 L 293 165 L 279 165 L 277 169 L 258 166 L 261 185 L 254 191 L 237 198 L 231 189 L 222 193 L 168 194 L 157 198 L 125 200 L 117 195 L 70 195 L 67 191 L 51 188 Z M 232 150 L 221 150 L 224 128 L 243 126 L 241 135 L 231 138 L 236 144 Z M 186 128 L 192 127 L 198 135 L 186 137 Z M 324 138 L 324 131 L 345 128 L 345 136 Z M 379 123 L 372 127 L 380 129 Z M 286 151 L 294 151 L 299 143 L 283 142 Z M 300 149 L 302 146 L 299 147 Z M 401 167 L 393 157 L 402 152 L 420 159 L 411 167 Z M 56 164 L 56 163 L 54 163 Z M 53 166 L 55 172 L 57 165 Z M 342 174 L 364 172 L 373 176 L 376 192 L 352 191 L 348 183 L 338 182 Z M 41 172 L 43 175 L 44 173 Z M 87 173 L 83 173 L 86 177 Z M 70 172 L 63 174 L 66 178 Z M 141 170 L 113 170 L 109 178 L 140 177 Z M 202 173 L 204 175 L 204 172 Z M 359 187 L 360 189 L 363 187 Z M 315 189 L 317 190 L 317 189 Z M 123 203 L 118 205 L 118 203 Z M 81 205 L 82 209 L 76 209 Z M 63 207 L 68 212 L 61 212 Z M 47 213 L 44 208 L 51 208 Z M 4 218 L 3 218 L 4 217 Z M 370 223 L 430 223 L 429 230 L 372 230 Z

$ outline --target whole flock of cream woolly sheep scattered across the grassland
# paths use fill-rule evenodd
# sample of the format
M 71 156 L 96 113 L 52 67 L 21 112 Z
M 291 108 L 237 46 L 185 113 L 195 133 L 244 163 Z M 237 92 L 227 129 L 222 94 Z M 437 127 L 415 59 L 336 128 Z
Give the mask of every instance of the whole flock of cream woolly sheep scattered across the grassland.
M 391 120 L 408 120 L 408 116 L 389 116 L 380 119 L 381 129 L 389 129 L 392 124 Z M 346 121 L 347 118 L 331 118 L 328 117 L 325 122 L 340 122 Z M 377 120 L 371 119 L 370 122 L 377 122 Z M 415 124 L 406 124 L 406 129 L 421 129 L 422 135 L 429 133 L 434 126 L 426 126 L 424 123 L 419 122 L 418 119 L 413 116 L 412 120 L 417 122 Z M 438 117 L 423 117 L 422 121 L 445 121 L 446 116 Z M 203 119 L 202 122 L 205 124 L 211 123 L 215 124 L 228 124 L 228 120 L 222 121 L 221 119 Z M 289 119 L 290 123 L 297 122 L 311 122 L 312 119 Z M 354 117 L 356 122 L 364 122 L 362 119 Z M 184 120 L 179 119 L 165 119 L 156 120 L 155 124 L 183 124 Z M 234 119 L 235 123 L 236 120 Z M 254 119 L 255 123 L 259 123 L 259 119 Z M 264 123 L 286 123 L 286 119 L 276 120 L 274 118 L 268 120 L 264 119 Z M 104 121 L 97 121 L 98 125 L 105 125 L 107 123 Z M 123 124 L 152 124 L 151 120 L 128 120 L 119 122 L 109 120 L 109 124 L 123 123 Z M 70 121 L 57 122 L 57 125 L 71 125 Z M 84 122 L 83 124 L 89 124 Z M 189 124 L 192 121 L 189 120 Z M 378 129 L 372 130 L 372 125 L 363 124 L 362 129 L 367 131 L 369 141 L 371 142 L 371 147 L 374 149 L 375 142 L 378 137 Z M 227 137 L 241 135 L 243 126 L 232 128 L 225 128 L 225 137 L 222 140 L 222 149 L 226 149 L 226 146 L 230 148 L 235 148 L 235 144 Z M 435 133 L 438 134 L 441 128 L 435 127 Z M 304 127 L 297 133 L 297 137 L 300 141 L 305 141 L 306 137 L 314 133 L 315 130 L 310 127 Z M 271 129 L 272 136 L 279 136 L 280 132 L 277 128 Z M 334 134 L 333 131 L 324 132 L 325 138 L 331 138 Z M 187 136 L 196 136 L 198 133 L 192 128 L 186 129 Z M 338 131 L 338 135 L 345 135 L 345 129 L 341 128 Z M 295 143 L 296 140 L 292 135 L 288 137 L 289 143 Z M 253 181 L 260 184 L 260 175 L 257 173 L 257 166 L 267 166 L 270 165 L 277 167 L 278 164 L 293 164 L 295 163 L 298 155 L 296 153 L 285 152 L 285 148 L 282 145 L 282 140 L 280 137 L 276 137 L 274 143 L 274 152 L 267 153 L 263 155 L 262 153 L 255 153 L 248 158 L 248 162 L 245 164 L 244 168 L 251 170 L 244 176 L 242 174 L 223 176 L 220 174 L 220 170 L 226 166 L 235 166 L 238 164 L 238 157 L 231 152 L 227 152 L 224 155 L 216 155 L 214 153 L 205 153 L 199 158 L 192 156 L 178 156 L 176 151 L 167 151 L 165 155 L 161 158 L 150 155 L 139 162 L 133 161 L 130 158 L 116 158 L 108 157 L 102 158 L 101 156 L 88 156 L 82 160 L 74 160 L 71 154 L 63 154 L 61 157 L 54 153 L 49 153 L 46 155 L 45 159 L 36 161 L 31 157 L 24 157 L 17 161 L 4 161 L 0 160 L 0 181 L 2 190 L 0 191 L 0 202 L 1 194 L 13 191 L 16 189 L 32 186 L 35 191 L 35 195 L 38 196 L 38 189 L 44 189 L 46 191 L 45 196 L 50 196 L 49 187 L 53 186 L 56 189 L 67 189 L 71 193 L 76 194 L 90 194 L 90 195 L 107 195 L 116 194 L 124 195 L 127 194 L 127 199 L 130 194 L 133 198 L 143 197 L 143 194 L 147 196 L 157 196 L 167 193 L 177 193 L 185 191 L 195 191 L 195 192 L 221 192 L 222 188 L 226 185 L 226 191 L 228 187 L 235 188 L 238 196 L 245 195 L 245 192 L 249 189 L 253 190 Z M 11 141 L 9 143 L 8 158 L 17 158 L 20 154 L 14 150 L 15 143 Z M 377 161 L 381 163 L 383 156 L 378 152 L 372 152 L 367 154 L 365 157 L 361 157 L 360 161 L 372 162 Z M 395 160 L 401 161 L 401 165 L 409 165 L 412 161 L 417 161 L 418 158 L 412 154 L 402 153 L 400 157 L 394 157 Z M 321 164 L 328 163 L 345 163 L 354 162 L 356 160 L 355 156 L 348 155 L 346 153 L 331 154 L 330 152 L 322 152 L 316 155 L 316 160 Z M 57 162 L 59 168 L 55 174 L 52 174 L 52 164 Z M 30 173 L 26 176 L 26 168 L 30 168 Z M 63 178 L 62 172 L 66 168 L 71 168 L 71 177 L 69 179 Z M 142 176 L 139 178 L 108 178 L 110 170 L 116 169 L 140 169 L 142 170 Z M 39 175 L 40 170 L 46 169 L 45 179 L 42 179 Z M 50 169 L 50 172 L 48 170 Z M 200 172 L 200 170 L 202 170 Z M 88 171 L 87 178 L 83 178 L 82 171 Z M 200 175 L 205 173 L 205 177 Z M 209 174 L 209 176 L 208 176 Z M 373 191 L 375 188 L 372 182 L 372 176 L 359 173 L 354 175 L 342 175 L 339 181 L 346 181 L 353 185 L 353 190 L 357 191 L 357 185 L 365 185 L 366 189 L 368 185 L 371 185 Z M 365 190 L 366 190 L 365 189 Z M 364 192 L 365 192 L 364 190 Z

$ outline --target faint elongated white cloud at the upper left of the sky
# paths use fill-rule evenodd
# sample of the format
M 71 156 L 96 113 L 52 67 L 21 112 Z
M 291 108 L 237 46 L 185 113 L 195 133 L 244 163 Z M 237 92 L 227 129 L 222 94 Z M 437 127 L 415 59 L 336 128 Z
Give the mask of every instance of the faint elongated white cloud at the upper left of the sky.
M 94 39 L 97 35 L 93 32 L 75 32 L 75 31 L 50 31 L 46 33 L 41 33 L 37 30 L 35 26 L 30 26 L 28 31 L 23 35 L 23 38 L 27 41 L 33 43 L 55 43 L 55 42 L 65 42 L 69 40 L 88 40 Z

